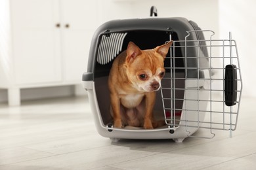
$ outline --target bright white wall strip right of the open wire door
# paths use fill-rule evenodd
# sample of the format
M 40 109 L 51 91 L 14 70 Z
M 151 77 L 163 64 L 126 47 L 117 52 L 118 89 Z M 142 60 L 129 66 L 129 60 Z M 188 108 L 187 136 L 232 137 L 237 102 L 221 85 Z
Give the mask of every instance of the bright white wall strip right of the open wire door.
M 243 78 L 243 96 L 256 97 L 256 1 L 225 0 L 219 1 L 219 27 L 221 36 L 232 31 L 236 40 L 240 67 Z M 226 36 L 226 38 L 228 38 Z

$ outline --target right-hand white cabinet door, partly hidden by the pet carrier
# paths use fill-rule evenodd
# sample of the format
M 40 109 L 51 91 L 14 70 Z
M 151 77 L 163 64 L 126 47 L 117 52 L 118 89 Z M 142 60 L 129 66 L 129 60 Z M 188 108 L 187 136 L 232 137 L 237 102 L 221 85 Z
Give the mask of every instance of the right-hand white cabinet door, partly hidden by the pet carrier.
M 64 80 L 81 82 L 87 71 L 91 38 L 98 23 L 97 1 L 62 0 L 62 55 Z

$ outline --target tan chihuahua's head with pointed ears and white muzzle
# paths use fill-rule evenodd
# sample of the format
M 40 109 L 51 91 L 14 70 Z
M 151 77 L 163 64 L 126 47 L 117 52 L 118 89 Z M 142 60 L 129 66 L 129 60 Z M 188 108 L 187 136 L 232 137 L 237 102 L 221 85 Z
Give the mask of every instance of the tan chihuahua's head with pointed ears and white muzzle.
M 127 76 L 139 92 L 154 92 L 161 88 L 165 75 L 163 61 L 173 41 L 152 50 L 140 50 L 133 42 L 127 47 Z

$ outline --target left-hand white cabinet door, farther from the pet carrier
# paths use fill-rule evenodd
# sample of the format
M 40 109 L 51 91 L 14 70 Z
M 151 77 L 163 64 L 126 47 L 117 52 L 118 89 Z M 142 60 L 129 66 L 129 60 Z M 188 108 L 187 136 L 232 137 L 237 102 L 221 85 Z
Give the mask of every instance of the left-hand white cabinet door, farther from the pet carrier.
M 58 0 L 11 1 L 17 84 L 61 80 L 58 7 Z

